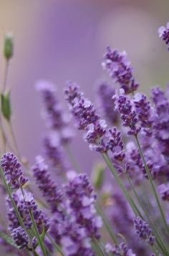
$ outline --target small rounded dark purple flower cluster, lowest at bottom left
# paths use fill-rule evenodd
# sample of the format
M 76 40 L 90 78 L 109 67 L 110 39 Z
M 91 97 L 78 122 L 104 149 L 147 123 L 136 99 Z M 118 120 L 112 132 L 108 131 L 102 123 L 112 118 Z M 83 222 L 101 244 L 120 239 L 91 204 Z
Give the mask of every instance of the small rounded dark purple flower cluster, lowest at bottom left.
M 22 227 L 13 229 L 11 232 L 11 237 L 14 239 L 15 244 L 18 245 L 20 249 L 24 249 L 28 245 L 29 237 Z

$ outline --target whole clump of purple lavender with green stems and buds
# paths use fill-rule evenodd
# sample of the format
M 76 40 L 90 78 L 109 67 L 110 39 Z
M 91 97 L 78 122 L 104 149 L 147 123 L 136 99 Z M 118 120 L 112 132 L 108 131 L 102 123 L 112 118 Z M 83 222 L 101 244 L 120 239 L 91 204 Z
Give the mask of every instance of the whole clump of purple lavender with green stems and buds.
M 158 32 L 168 45 L 168 24 Z M 39 81 L 48 129 L 42 156 L 31 166 L 11 122 L 6 80 L 13 53 L 13 38 L 6 35 L 0 176 L 7 214 L 0 213 L 1 247 L 14 255 L 168 256 L 168 89 L 153 88 L 150 99 L 138 92 L 126 52 L 110 47 L 102 66 L 112 84 L 100 84 L 99 109 L 72 82 L 64 90 L 69 110 L 63 109 L 55 86 Z M 93 184 L 71 150 L 76 128 L 105 161 L 96 165 Z

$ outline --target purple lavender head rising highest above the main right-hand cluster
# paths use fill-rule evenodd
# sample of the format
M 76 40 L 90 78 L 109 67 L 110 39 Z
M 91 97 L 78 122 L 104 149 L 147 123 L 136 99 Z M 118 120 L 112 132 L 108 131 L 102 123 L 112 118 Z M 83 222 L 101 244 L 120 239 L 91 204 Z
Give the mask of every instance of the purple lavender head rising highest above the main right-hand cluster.
M 120 84 L 125 93 L 132 93 L 138 88 L 138 83 L 132 74 L 133 70 L 130 61 L 127 59 L 126 52 L 119 52 L 118 50 L 111 50 L 107 47 L 105 53 L 105 62 L 102 64 L 108 70 L 110 76 L 116 83 Z

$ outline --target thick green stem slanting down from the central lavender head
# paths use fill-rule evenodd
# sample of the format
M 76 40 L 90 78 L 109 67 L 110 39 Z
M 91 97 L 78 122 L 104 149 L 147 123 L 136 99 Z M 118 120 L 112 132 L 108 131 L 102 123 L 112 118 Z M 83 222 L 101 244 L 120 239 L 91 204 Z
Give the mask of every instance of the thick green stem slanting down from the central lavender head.
M 119 184 L 120 188 L 122 189 L 122 192 L 124 193 L 125 197 L 127 198 L 127 201 L 129 202 L 130 206 L 132 207 L 132 211 L 135 213 L 135 215 L 139 215 L 143 219 L 143 215 L 140 213 L 140 210 L 135 205 L 135 202 L 132 200 L 130 194 L 127 192 L 125 186 L 122 183 L 122 180 L 120 179 L 119 175 L 117 175 L 116 170 L 114 166 L 112 165 L 109 156 L 106 153 L 102 154 L 103 159 L 107 163 L 108 167 L 110 168 L 112 174 L 115 177 L 115 180 Z

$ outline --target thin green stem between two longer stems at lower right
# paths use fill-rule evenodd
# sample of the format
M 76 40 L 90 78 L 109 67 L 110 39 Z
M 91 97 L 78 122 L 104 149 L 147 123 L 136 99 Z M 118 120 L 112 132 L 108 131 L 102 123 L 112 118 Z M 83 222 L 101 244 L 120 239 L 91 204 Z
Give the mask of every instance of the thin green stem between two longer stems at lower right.
M 130 186 L 132 188 L 132 191 L 133 191 L 135 197 L 137 198 L 138 203 L 142 207 L 143 211 L 145 212 L 145 216 L 148 218 L 148 221 L 149 221 L 151 227 L 153 228 L 153 232 L 155 234 L 156 242 L 158 244 L 158 247 L 160 247 L 159 250 L 163 251 L 163 253 L 165 253 L 166 255 L 169 255 L 168 249 L 165 247 L 165 244 L 163 243 L 163 240 L 160 238 L 160 234 L 158 234 L 158 231 L 156 230 L 155 225 L 153 224 L 153 221 L 151 221 L 150 216 L 148 214 L 148 211 L 145 208 L 143 202 L 140 200 L 140 198 L 139 198 L 139 196 L 137 194 L 137 191 L 135 190 L 135 187 L 132 184 L 132 181 L 128 177 L 127 173 L 125 173 L 125 175 L 126 175 L 126 178 L 127 178 L 128 182 L 130 183 Z

